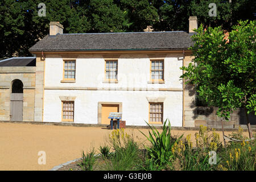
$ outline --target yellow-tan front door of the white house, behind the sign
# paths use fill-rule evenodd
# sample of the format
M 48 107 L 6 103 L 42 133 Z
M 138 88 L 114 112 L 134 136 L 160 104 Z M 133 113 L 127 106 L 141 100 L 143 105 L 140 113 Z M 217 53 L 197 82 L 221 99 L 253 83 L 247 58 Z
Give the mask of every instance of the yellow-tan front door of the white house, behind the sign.
M 115 104 L 102 104 L 102 118 L 101 124 L 109 125 L 110 119 L 109 113 L 118 113 L 119 112 L 119 105 Z

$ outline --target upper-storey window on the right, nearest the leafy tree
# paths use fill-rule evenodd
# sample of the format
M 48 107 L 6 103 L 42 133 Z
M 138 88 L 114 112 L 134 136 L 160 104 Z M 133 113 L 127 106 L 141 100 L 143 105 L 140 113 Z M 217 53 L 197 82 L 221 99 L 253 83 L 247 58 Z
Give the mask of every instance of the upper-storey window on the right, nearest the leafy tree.
M 164 80 L 164 61 L 154 60 L 150 62 L 150 76 L 152 81 Z

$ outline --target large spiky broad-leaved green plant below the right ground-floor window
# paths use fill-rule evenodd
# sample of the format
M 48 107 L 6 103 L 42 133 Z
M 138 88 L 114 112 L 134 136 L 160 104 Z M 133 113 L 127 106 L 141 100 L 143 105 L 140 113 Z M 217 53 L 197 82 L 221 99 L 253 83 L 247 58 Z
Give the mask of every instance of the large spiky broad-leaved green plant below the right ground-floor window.
M 177 140 L 172 138 L 171 123 L 170 121 L 168 121 L 168 125 L 166 125 L 166 122 L 167 122 L 167 119 L 163 123 L 162 133 L 159 133 L 159 131 L 154 126 L 150 126 L 147 122 L 146 123 L 150 127 L 152 134 L 150 131 L 148 131 L 149 137 L 147 137 L 145 134 L 141 132 L 147 138 L 147 140 L 150 141 L 150 143 L 152 144 L 152 146 L 150 147 L 145 146 L 145 148 L 148 151 L 148 154 L 160 166 L 162 166 L 164 163 L 166 163 L 168 160 L 172 158 L 171 148 L 183 136 L 181 135 L 181 137 L 178 138 Z

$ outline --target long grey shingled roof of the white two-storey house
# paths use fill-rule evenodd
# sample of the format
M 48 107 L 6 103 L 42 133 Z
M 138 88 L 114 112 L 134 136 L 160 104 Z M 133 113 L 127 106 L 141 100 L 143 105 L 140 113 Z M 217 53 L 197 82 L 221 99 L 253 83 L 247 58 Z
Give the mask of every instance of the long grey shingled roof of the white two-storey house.
M 191 35 L 184 31 L 57 34 L 45 36 L 30 51 L 121 51 L 187 49 Z

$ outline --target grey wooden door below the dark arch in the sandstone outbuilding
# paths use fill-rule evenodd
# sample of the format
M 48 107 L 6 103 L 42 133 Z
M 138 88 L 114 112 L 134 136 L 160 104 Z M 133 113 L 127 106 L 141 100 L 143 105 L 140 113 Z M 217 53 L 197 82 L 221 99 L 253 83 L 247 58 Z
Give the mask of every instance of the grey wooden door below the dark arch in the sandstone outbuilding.
M 23 120 L 23 93 L 11 93 L 10 121 Z

